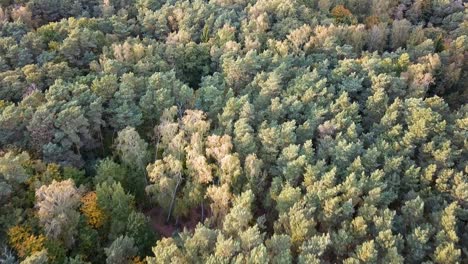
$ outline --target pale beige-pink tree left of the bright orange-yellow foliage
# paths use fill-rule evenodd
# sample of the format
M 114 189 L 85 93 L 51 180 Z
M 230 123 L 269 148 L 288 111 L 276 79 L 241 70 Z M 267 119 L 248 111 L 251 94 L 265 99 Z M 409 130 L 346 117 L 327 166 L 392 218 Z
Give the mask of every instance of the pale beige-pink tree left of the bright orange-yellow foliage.
M 80 213 L 81 193 L 73 180 L 52 181 L 36 191 L 36 207 L 39 222 L 50 239 L 61 241 L 66 247 L 73 246 Z

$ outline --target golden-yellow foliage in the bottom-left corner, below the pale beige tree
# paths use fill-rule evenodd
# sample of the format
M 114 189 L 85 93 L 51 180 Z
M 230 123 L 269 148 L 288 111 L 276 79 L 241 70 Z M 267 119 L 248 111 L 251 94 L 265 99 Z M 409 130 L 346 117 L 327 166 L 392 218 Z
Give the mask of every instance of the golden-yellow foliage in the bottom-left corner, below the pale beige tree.
M 14 226 L 8 229 L 8 241 L 18 256 L 25 258 L 44 249 L 45 236 L 35 236 L 30 228 Z

